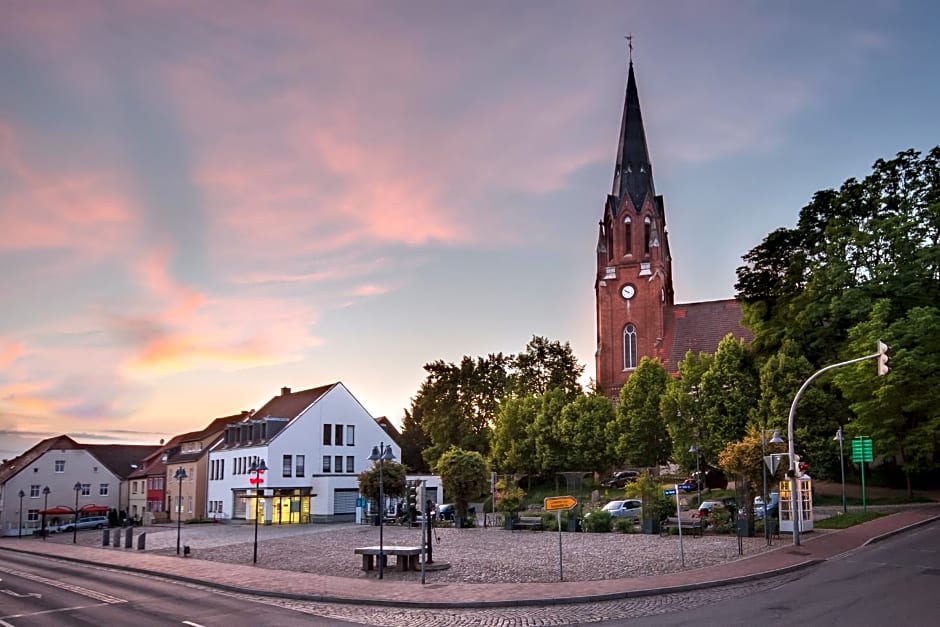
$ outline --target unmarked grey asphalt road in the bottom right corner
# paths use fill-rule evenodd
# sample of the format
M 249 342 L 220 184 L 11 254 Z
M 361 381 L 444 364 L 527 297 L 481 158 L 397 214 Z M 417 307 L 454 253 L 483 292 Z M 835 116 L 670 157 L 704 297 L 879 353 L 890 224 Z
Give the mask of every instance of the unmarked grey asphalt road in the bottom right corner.
M 733 603 L 647 616 L 631 625 L 937 625 L 940 523 L 781 579 Z M 623 625 L 628 621 L 609 621 Z

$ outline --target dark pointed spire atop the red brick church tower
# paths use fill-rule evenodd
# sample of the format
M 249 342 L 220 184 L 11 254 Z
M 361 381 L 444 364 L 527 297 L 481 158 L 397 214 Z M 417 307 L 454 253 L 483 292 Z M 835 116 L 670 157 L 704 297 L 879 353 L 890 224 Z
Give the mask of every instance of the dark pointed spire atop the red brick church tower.
M 620 145 L 617 147 L 617 169 L 614 171 L 611 194 L 619 199 L 629 194 L 633 207 L 639 211 L 647 194 L 655 196 L 655 189 L 649 149 L 646 147 L 646 132 L 643 130 L 643 116 L 640 114 L 640 96 L 633 74 L 632 41 L 630 56 L 627 94 L 623 103 L 623 121 L 620 124 Z

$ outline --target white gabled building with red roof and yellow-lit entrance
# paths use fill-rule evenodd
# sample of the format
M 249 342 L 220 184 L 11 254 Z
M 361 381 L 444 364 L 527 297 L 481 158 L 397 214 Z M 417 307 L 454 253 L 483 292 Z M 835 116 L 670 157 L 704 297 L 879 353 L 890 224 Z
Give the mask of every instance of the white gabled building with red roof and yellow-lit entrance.
M 208 515 L 266 524 L 353 520 L 358 474 L 379 444 L 400 447 L 342 383 L 282 388 L 256 412 L 226 427 L 209 452 Z M 268 470 L 252 472 L 263 460 Z M 260 495 L 252 480 L 260 478 Z M 256 496 L 260 498 L 256 499 Z

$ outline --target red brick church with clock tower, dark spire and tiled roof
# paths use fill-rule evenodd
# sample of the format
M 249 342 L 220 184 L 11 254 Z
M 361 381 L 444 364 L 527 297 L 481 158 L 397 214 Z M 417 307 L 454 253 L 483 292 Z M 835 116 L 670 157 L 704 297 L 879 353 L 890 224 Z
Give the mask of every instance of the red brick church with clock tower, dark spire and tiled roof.
M 675 375 L 689 350 L 714 353 L 728 333 L 751 339 L 734 299 L 675 302 L 666 209 L 653 185 L 632 60 L 614 184 L 597 240 L 594 289 L 597 386 L 611 398 L 644 356 L 658 358 Z

